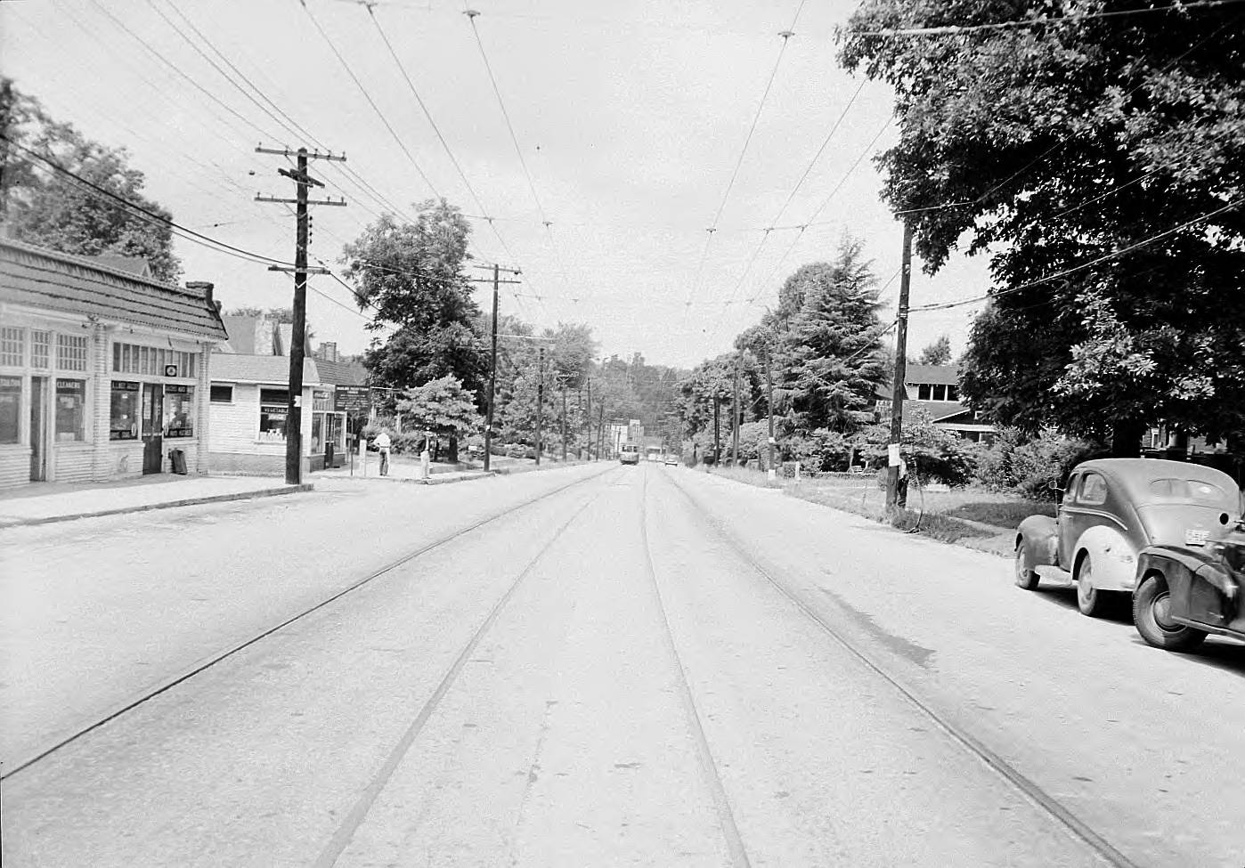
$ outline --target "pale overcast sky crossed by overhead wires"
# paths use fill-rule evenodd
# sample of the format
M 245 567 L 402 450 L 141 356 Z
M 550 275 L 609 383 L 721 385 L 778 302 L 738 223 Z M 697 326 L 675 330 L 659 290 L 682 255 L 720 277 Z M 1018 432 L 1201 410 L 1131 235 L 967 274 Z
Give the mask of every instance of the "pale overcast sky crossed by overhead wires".
M 472 215 L 479 262 L 523 271 L 502 313 L 586 323 L 603 355 L 690 367 L 730 350 L 844 233 L 864 243 L 893 318 L 903 233 L 873 163 L 896 137 L 893 93 L 835 61 L 834 29 L 855 6 L 388 0 L 370 15 L 354 0 L 4 0 L 0 72 L 125 146 L 184 227 L 289 262 L 290 210 L 254 202 L 293 196 L 276 173 L 289 162 L 255 147 L 345 153 L 312 162 L 326 182 L 314 197 L 347 202 L 312 210 L 312 259 L 340 271 L 342 244 L 380 213 L 444 197 Z M 176 252 L 227 310 L 290 304 L 288 274 L 182 239 Z M 934 276 L 914 260 L 913 304 L 989 286 L 981 257 L 954 254 Z M 369 318 L 346 288 L 324 275 L 311 288 L 316 340 L 362 351 Z M 977 310 L 914 314 L 909 352 L 947 334 L 959 354 Z

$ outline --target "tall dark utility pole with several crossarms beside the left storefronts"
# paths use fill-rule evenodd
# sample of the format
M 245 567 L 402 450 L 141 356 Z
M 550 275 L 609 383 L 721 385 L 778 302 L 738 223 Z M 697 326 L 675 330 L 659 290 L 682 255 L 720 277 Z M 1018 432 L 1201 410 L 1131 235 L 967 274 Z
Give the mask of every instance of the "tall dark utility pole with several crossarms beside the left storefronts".
M 255 148 L 256 153 L 275 153 L 281 157 L 296 157 L 294 169 L 276 169 L 278 174 L 285 176 L 294 182 L 295 198 L 283 199 L 270 196 L 256 196 L 255 202 L 280 202 L 293 203 L 295 207 L 295 242 L 294 242 L 294 268 L 269 265 L 269 271 L 294 271 L 294 323 L 290 328 L 290 382 L 289 397 L 285 408 L 285 483 L 296 486 L 303 482 L 303 359 L 306 355 L 306 330 L 308 330 L 308 274 L 329 274 L 326 268 L 308 268 L 308 245 L 311 242 L 308 205 L 336 205 L 344 208 L 346 200 L 341 199 L 308 199 L 308 187 L 324 187 L 324 182 L 316 181 L 308 174 L 309 159 L 331 159 L 346 162 L 346 156 L 334 156 L 299 148 L 291 152 L 289 148 Z

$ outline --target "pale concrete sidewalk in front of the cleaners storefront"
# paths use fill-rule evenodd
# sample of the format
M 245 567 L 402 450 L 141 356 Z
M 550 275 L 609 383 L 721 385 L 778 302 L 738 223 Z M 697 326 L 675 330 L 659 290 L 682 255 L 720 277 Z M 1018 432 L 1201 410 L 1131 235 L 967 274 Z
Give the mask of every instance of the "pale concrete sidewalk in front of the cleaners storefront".
M 171 479 L 161 474 L 93 484 L 35 483 L 0 494 L 0 529 L 194 503 L 274 497 L 311 488 L 311 483 L 288 486 L 276 477 L 243 476 L 186 476 Z

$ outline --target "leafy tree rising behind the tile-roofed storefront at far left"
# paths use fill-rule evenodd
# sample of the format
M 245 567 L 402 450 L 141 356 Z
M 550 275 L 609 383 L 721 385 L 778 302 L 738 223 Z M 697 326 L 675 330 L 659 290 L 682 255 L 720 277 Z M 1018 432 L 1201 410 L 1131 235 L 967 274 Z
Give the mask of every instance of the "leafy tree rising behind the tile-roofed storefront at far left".
M 168 224 L 172 214 L 142 194 L 146 178 L 129 166 L 125 148 L 93 142 L 72 125 L 52 120 L 36 98 L 4 77 L 0 134 L 154 215 L 141 217 L 0 139 L 0 220 L 14 238 L 86 257 L 136 257 L 147 260 L 159 280 L 181 278 Z

